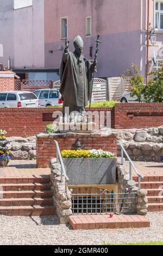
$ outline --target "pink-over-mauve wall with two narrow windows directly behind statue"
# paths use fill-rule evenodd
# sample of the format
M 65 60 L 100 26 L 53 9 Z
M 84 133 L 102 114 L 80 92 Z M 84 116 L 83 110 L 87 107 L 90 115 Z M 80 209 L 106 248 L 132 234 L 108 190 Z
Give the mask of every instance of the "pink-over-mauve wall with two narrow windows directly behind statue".
M 141 0 L 47 0 L 45 52 L 54 49 L 53 54 L 45 54 L 48 67 L 60 64 L 62 51 L 57 49 L 65 45 L 63 19 L 67 21 L 70 50 L 73 51 L 73 39 L 79 34 L 84 39 L 87 59 L 94 58 L 94 40 L 101 34 L 97 77 L 120 76 L 132 62 L 140 64 Z

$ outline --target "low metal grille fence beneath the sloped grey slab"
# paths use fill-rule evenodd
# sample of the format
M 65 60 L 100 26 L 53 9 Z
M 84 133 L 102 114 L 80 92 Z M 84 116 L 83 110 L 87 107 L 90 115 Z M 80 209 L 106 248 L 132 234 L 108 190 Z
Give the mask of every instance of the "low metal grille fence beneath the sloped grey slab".
M 71 193 L 72 213 L 107 214 L 135 212 L 136 193 L 114 193 L 100 190 L 99 193 Z

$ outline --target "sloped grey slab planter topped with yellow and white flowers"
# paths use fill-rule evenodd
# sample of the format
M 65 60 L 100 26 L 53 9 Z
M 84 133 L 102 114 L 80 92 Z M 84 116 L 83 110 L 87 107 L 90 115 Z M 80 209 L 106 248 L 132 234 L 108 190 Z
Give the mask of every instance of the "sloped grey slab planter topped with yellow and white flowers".
M 102 149 L 61 151 L 71 185 L 115 184 L 116 157 Z

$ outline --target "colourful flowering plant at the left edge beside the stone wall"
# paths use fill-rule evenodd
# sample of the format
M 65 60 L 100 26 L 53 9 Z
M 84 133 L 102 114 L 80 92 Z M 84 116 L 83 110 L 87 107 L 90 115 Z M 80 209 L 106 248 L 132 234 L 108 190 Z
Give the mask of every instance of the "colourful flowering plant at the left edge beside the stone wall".
M 6 134 L 6 131 L 0 130 L 0 167 L 6 167 L 12 158 L 7 148 L 8 141 L 4 136 Z

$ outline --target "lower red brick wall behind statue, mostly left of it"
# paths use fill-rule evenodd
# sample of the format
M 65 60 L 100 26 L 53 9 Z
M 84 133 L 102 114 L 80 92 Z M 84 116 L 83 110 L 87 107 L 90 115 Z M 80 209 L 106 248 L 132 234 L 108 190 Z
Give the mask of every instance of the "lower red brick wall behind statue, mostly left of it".
M 44 132 L 47 124 L 52 123 L 53 112 L 61 111 L 61 108 L 0 108 L 0 129 L 8 132 L 7 136 L 34 136 L 36 133 Z M 93 111 L 99 111 L 94 109 Z M 106 112 L 112 108 L 101 108 Z M 114 113 L 111 112 L 112 127 L 114 127 Z

